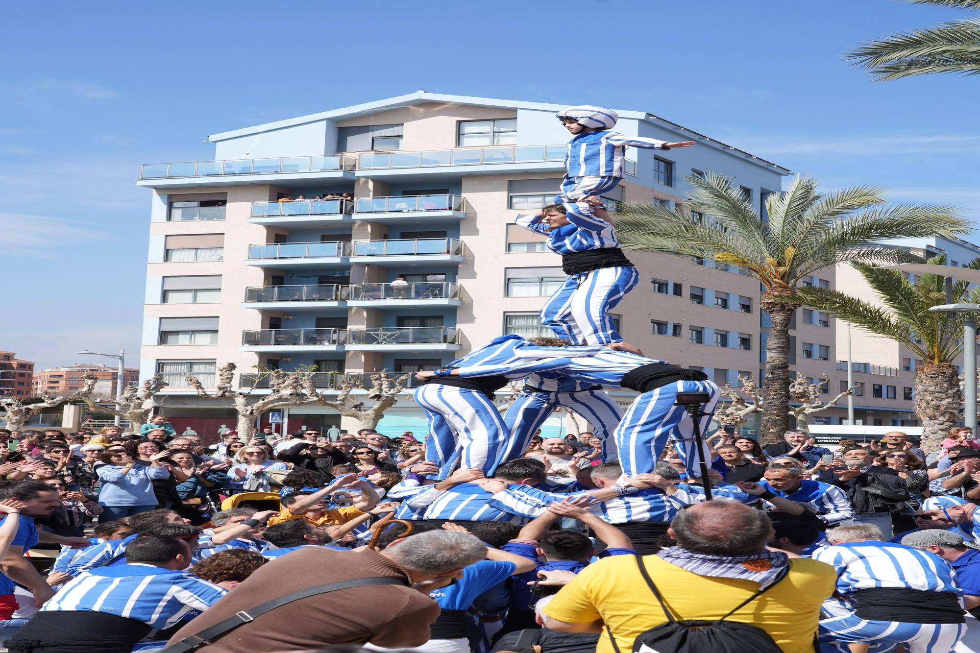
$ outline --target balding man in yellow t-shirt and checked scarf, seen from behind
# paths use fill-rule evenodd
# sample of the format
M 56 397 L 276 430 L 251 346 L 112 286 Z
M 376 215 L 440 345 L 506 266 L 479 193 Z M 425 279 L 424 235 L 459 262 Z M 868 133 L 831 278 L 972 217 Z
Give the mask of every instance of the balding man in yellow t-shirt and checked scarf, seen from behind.
M 720 619 L 760 588 L 760 581 L 746 579 L 753 578 L 753 570 L 785 564 L 778 554 L 764 549 L 772 532 L 765 514 L 735 501 L 715 499 L 681 511 L 667 532 L 678 547 L 662 553 L 673 562 L 660 555 L 644 556 L 642 561 L 678 621 Z M 699 569 L 710 567 L 712 576 L 674 564 L 695 561 Z M 632 651 L 637 635 L 666 623 L 636 563 L 632 556 L 613 556 L 585 568 L 544 608 L 546 626 L 602 632 L 597 653 L 614 653 L 605 628 L 609 626 L 618 650 Z M 811 653 L 820 605 L 834 591 L 837 575 L 829 565 L 813 560 L 796 558 L 788 564 L 785 578 L 727 621 L 762 628 L 785 653 Z

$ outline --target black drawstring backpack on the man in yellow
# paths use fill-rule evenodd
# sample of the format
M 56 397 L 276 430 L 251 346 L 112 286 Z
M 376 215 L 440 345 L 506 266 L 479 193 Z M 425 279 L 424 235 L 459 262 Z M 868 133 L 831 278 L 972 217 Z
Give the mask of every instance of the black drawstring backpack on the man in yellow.
M 647 569 L 644 567 L 643 559 L 640 556 L 636 557 L 636 565 L 640 568 L 643 579 L 647 581 L 647 586 L 654 592 L 654 596 L 661 604 L 667 623 L 638 634 L 633 640 L 633 653 L 708 653 L 709 651 L 711 653 L 782 653 L 782 649 L 776 646 L 776 642 L 772 641 L 769 633 L 762 628 L 749 624 L 726 622 L 725 620 L 759 598 L 766 589 L 786 578 L 786 575 L 789 574 L 789 566 L 780 574 L 779 578 L 739 603 L 727 615 L 721 619 L 707 622 L 674 619 L 663 602 L 657 585 L 647 574 Z M 607 626 L 606 631 L 613 642 L 613 651 L 620 653 L 613 637 L 613 630 Z

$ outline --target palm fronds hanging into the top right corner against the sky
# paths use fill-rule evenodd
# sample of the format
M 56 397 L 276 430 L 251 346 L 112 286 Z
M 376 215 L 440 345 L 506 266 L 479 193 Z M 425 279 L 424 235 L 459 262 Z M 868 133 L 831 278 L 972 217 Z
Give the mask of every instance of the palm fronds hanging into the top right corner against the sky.
M 980 10 L 980 0 L 911 0 Z M 980 73 L 980 19 L 963 19 L 864 43 L 845 55 L 877 81 L 934 73 Z

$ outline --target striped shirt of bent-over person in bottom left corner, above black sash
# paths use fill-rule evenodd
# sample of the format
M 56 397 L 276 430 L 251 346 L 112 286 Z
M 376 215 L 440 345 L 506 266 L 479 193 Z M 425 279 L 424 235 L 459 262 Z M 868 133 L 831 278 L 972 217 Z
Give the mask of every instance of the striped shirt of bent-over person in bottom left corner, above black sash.
M 224 596 L 218 585 L 153 565 L 103 567 L 65 583 L 44 612 L 101 612 L 170 628 L 192 610 L 204 611 Z

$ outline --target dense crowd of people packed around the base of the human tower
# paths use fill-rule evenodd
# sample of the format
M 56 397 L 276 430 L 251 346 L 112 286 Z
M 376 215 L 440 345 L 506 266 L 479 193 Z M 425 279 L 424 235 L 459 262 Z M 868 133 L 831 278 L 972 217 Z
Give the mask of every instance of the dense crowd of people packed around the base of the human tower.
M 758 627 L 783 651 L 980 639 L 980 444 L 964 427 L 929 452 L 900 431 L 831 451 L 802 430 L 762 447 L 722 429 L 704 478 L 669 445 L 652 474 L 625 477 L 591 432 L 538 432 L 493 477 L 438 481 L 409 431 L 225 429 L 209 445 L 157 417 L 135 433 L 0 429 L 8 440 L 12 651 L 163 648 L 340 580 L 356 585 L 297 599 L 288 626 L 272 610 L 198 650 L 670 650 L 656 648 L 666 614 Z M 44 547 L 53 565 L 25 558 Z M 727 614 L 760 590 L 760 608 Z

